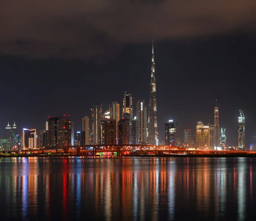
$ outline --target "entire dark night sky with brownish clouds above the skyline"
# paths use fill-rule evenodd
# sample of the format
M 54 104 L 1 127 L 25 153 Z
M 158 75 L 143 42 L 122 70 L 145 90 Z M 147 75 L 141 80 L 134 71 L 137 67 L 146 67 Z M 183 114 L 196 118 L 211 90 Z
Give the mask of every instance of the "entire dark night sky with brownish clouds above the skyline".
M 0 8 L 0 136 L 9 121 L 44 129 L 69 114 L 74 130 L 92 104 L 122 106 L 125 91 L 149 102 L 152 39 L 159 141 L 164 122 L 195 134 L 214 122 L 237 146 L 239 110 L 246 145 L 256 142 L 255 0 L 4 1 Z M 121 111 L 121 108 L 120 108 Z

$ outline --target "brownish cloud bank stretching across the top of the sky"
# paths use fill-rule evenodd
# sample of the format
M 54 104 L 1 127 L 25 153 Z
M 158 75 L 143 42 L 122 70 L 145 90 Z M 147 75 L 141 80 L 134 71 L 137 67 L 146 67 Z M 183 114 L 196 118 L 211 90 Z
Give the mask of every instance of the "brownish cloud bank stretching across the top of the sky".
M 250 32 L 255 11 L 255 0 L 9 0 L 0 9 L 0 53 L 86 58 L 152 38 Z

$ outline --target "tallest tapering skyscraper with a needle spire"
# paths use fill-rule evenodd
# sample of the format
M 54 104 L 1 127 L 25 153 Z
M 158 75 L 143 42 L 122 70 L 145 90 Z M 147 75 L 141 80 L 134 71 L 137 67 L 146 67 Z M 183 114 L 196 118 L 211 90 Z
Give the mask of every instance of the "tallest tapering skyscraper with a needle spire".
M 148 142 L 153 145 L 158 145 L 154 45 L 152 46 L 150 99 L 148 105 Z

